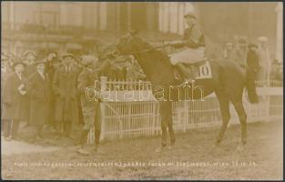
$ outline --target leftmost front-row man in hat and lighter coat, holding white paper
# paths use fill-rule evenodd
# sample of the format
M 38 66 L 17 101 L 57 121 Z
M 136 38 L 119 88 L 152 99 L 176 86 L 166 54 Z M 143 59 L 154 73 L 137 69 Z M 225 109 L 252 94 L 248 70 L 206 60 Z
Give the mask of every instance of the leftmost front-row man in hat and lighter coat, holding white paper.
M 14 72 L 7 76 L 4 83 L 2 119 L 6 140 L 17 139 L 18 127 L 25 115 L 24 96 L 27 94 L 27 81 L 23 74 L 24 66 L 23 62 L 15 62 Z

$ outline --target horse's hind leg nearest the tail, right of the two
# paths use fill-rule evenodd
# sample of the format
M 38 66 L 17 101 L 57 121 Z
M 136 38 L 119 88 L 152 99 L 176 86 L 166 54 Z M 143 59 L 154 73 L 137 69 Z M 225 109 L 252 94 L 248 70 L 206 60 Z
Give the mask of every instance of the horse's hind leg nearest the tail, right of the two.
M 245 112 L 242 100 L 232 101 L 233 106 L 235 107 L 238 115 L 241 128 L 241 143 L 245 145 L 247 143 L 247 114 Z

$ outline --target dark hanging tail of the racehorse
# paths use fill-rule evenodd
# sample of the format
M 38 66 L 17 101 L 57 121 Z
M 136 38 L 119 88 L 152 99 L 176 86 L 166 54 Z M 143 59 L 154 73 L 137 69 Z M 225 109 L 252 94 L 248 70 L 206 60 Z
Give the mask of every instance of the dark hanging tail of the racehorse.
M 246 88 L 248 90 L 249 102 L 251 104 L 259 102 L 259 96 L 257 95 L 255 86 L 256 73 L 254 70 L 247 67 L 246 69 Z

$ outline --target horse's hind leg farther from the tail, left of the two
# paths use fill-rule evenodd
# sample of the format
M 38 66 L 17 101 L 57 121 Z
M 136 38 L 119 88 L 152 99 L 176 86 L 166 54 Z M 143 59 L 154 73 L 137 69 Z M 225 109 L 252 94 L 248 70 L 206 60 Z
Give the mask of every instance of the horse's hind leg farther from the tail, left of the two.
M 229 124 L 229 118 L 230 118 L 230 113 L 229 113 L 229 99 L 227 97 L 222 97 L 218 96 L 219 99 L 219 109 L 222 117 L 222 126 L 219 128 L 219 135 L 217 137 L 216 145 L 219 145 L 220 142 L 222 141 L 226 129 Z

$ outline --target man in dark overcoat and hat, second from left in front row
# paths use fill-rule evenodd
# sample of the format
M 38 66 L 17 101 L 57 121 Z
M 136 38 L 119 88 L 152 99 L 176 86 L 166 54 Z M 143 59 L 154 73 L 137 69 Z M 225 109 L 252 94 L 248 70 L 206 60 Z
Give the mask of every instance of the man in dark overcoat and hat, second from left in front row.
M 33 140 L 41 139 L 42 127 L 47 123 L 50 101 L 50 80 L 45 73 L 46 62 L 36 62 L 36 72 L 29 77 L 31 98 L 30 125 L 34 126 Z

